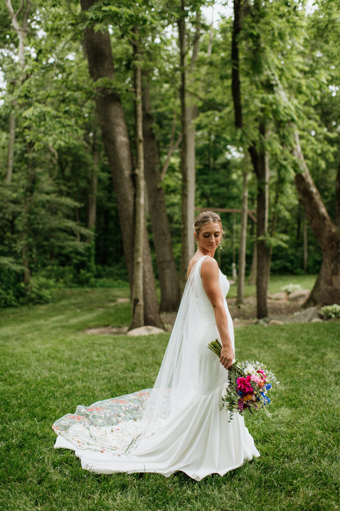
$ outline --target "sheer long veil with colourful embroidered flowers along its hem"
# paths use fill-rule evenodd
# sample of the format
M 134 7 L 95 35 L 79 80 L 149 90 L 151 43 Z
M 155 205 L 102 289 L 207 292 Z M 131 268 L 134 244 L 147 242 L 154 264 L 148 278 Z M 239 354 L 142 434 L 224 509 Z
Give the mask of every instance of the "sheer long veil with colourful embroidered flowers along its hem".
M 172 334 L 152 389 L 78 406 L 57 420 L 55 447 L 127 454 L 185 409 L 199 387 L 197 337 L 200 330 L 198 284 L 205 257 L 191 268 Z

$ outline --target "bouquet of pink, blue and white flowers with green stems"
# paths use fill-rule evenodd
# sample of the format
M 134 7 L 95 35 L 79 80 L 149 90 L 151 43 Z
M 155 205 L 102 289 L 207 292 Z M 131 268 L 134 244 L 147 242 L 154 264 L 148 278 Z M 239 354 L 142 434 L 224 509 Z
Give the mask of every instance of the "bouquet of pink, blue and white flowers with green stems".
M 222 344 L 219 339 L 209 342 L 208 348 L 218 358 L 221 357 Z M 222 392 L 220 409 L 230 412 L 229 422 L 235 412 L 243 415 L 247 409 L 250 413 L 263 410 L 268 417 L 271 417 L 266 408 L 271 402 L 267 394 L 274 383 L 278 385 L 280 382 L 264 364 L 254 360 L 250 362 L 236 360 L 228 369 L 228 386 Z

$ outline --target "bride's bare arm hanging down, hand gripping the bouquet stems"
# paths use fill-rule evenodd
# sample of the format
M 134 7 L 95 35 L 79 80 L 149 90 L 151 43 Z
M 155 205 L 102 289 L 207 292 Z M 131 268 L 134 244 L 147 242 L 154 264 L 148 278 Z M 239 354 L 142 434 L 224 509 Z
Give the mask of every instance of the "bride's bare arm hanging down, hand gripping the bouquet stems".
M 220 286 L 217 261 L 206 258 L 202 262 L 201 276 L 204 291 L 214 309 L 215 321 L 222 342 L 220 362 L 226 369 L 233 363 L 235 354 L 231 345 L 227 313 L 223 305 L 223 294 Z

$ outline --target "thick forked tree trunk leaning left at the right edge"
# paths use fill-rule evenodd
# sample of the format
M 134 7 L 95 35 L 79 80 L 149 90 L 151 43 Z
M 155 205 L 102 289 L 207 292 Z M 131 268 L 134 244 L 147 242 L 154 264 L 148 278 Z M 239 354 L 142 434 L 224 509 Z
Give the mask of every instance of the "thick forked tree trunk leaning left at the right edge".
M 312 305 L 332 305 L 340 303 L 340 164 L 335 183 L 335 218 L 329 218 L 320 193 L 309 173 L 300 146 L 299 134 L 295 132 L 295 156 L 300 164 L 300 172 L 295 176 L 295 185 L 304 207 L 307 219 L 322 249 L 321 268 L 304 303 Z

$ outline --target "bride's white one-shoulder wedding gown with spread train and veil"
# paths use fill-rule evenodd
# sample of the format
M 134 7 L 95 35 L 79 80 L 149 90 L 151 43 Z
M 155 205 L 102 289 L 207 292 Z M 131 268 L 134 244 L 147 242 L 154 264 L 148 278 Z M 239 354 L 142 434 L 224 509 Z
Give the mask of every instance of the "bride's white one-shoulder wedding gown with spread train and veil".
M 236 413 L 228 423 L 219 408 L 228 373 L 207 349 L 218 331 L 201 279 L 206 257 L 191 269 L 153 389 L 78 406 L 54 423 L 55 448 L 74 450 L 84 469 L 164 476 L 180 470 L 200 480 L 259 456 L 243 417 Z M 221 271 L 220 284 L 226 296 L 230 286 Z M 226 300 L 224 306 L 234 346 Z

